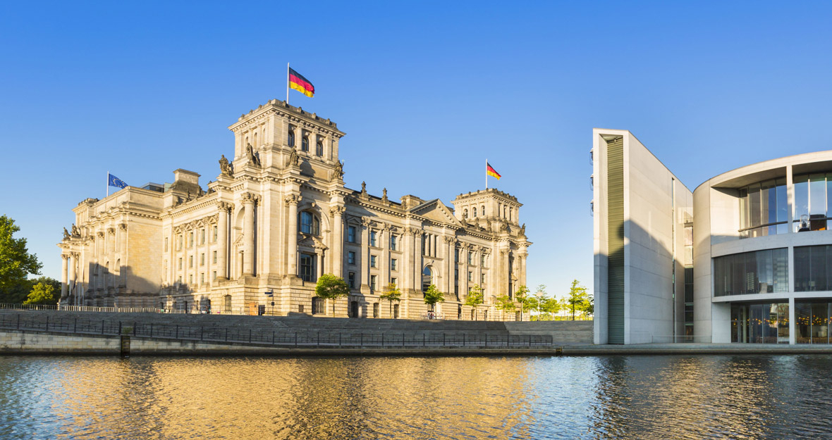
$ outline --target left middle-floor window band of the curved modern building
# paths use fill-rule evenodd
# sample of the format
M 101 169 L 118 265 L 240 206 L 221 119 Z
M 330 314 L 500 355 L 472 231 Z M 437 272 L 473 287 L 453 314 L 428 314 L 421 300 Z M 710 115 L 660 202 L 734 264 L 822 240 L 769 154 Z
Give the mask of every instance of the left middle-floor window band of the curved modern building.
M 714 296 L 789 290 L 789 252 L 783 247 L 714 258 Z

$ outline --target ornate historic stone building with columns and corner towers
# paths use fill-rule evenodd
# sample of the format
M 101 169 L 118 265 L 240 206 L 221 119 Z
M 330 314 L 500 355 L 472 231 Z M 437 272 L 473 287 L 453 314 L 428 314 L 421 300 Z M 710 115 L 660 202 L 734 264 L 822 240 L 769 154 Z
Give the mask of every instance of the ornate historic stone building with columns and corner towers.
M 433 284 L 445 293 L 436 310 L 445 319 L 493 320 L 495 299 L 525 284 L 531 242 L 517 198 L 492 188 L 459 194 L 450 208 L 346 188 L 344 132 L 280 100 L 229 129 L 234 159 L 220 159 L 207 191 L 199 174 L 177 169 L 173 183 L 73 209 L 76 223 L 58 244 L 62 304 L 332 315 L 314 286 L 333 273 L 351 286 L 334 315 L 417 318 Z M 392 306 L 379 301 L 390 282 L 402 291 Z M 485 293 L 476 312 L 462 305 L 474 284 Z

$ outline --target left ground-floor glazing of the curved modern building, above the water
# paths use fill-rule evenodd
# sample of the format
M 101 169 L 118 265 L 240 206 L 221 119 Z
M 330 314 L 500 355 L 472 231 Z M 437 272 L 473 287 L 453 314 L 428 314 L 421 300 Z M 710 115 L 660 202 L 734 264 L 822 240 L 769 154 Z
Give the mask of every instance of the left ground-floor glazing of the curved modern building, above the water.
M 732 304 L 730 341 L 751 344 L 789 343 L 789 303 Z

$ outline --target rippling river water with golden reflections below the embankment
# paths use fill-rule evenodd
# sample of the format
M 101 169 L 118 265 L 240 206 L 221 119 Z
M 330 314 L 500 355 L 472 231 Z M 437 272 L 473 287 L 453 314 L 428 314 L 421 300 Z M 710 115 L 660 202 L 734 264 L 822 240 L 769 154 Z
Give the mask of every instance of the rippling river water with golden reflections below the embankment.
M 0 438 L 832 438 L 832 356 L 0 357 Z

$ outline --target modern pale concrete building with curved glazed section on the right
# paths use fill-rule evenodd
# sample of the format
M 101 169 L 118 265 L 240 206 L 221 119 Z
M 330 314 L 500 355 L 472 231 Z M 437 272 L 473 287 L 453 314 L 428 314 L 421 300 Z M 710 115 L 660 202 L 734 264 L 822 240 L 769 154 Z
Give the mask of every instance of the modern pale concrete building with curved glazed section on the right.
M 629 131 L 593 135 L 597 343 L 830 343 L 832 151 L 691 194 Z

